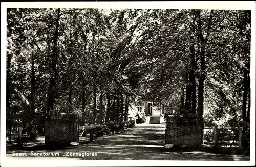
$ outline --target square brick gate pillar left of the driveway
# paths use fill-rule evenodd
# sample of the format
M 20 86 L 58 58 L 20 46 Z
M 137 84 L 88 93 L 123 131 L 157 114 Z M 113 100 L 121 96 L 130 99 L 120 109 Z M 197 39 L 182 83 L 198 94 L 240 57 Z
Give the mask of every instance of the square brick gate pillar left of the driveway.
M 67 118 L 54 118 L 45 124 L 45 145 L 69 145 L 78 142 L 78 120 Z

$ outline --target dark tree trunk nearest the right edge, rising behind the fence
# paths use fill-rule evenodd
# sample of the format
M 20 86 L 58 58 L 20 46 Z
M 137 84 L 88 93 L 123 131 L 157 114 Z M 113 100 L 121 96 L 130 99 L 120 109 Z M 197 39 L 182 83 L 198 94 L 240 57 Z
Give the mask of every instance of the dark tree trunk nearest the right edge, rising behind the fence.
M 242 104 L 242 118 L 243 121 L 246 120 L 246 106 L 247 106 L 247 94 L 248 94 L 248 76 L 247 76 L 247 69 L 243 69 L 244 72 L 244 93 L 243 93 L 243 104 Z

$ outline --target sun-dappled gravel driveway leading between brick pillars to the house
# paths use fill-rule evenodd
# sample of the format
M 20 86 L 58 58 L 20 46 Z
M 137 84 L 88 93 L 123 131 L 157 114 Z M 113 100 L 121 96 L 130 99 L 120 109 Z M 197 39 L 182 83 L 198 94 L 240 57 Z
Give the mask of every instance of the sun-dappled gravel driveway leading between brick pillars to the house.
M 32 156 L 31 150 L 7 150 L 9 159 L 51 159 L 51 158 L 73 158 L 73 159 L 95 159 L 95 160 L 249 160 L 249 157 L 233 155 L 221 155 L 203 151 L 172 151 L 165 149 L 164 145 L 164 124 L 137 125 L 135 128 L 126 130 L 123 133 L 98 137 L 94 142 L 83 144 L 78 147 L 67 147 L 57 150 L 32 150 L 33 153 L 56 154 L 57 156 Z M 26 156 L 13 156 L 12 152 L 23 153 Z M 72 156 L 66 156 L 72 155 Z M 79 155 L 80 153 L 80 155 Z M 93 156 L 96 155 L 97 156 Z M 84 156 L 83 156 L 84 154 Z M 28 158 L 28 159 L 27 159 Z

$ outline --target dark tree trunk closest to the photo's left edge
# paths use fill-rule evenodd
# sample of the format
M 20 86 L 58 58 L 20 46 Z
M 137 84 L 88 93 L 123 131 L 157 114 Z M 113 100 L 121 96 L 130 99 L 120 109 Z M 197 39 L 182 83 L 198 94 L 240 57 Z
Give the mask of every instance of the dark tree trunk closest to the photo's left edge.
M 9 144 L 12 143 L 12 113 L 11 113 L 11 55 L 7 54 L 7 66 L 6 66 L 6 116 L 9 124 Z

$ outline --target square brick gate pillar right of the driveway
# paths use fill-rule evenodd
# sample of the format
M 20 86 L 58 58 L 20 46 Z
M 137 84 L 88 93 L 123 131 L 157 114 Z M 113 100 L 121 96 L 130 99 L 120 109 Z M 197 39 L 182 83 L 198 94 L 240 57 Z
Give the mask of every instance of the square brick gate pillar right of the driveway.
M 198 148 L 201 145 L 201 123 L 198 118 L 167 117 L 166 144 Z

